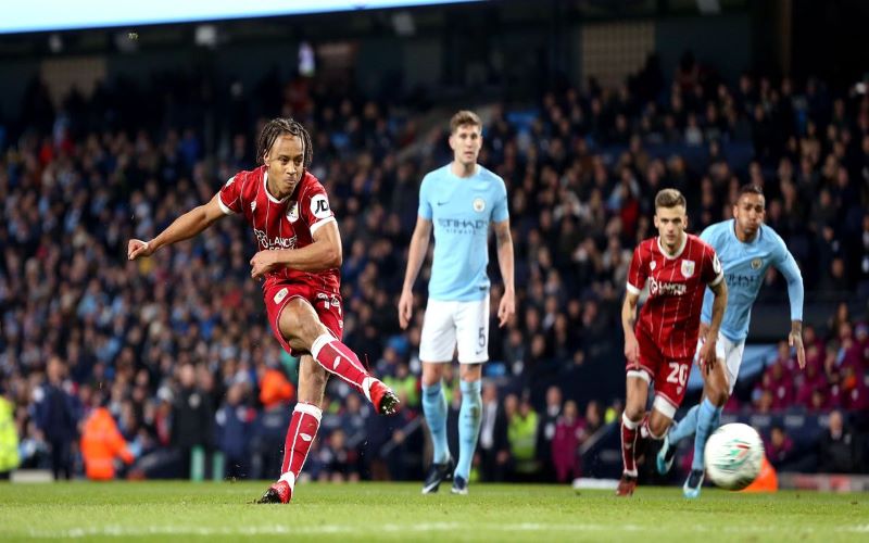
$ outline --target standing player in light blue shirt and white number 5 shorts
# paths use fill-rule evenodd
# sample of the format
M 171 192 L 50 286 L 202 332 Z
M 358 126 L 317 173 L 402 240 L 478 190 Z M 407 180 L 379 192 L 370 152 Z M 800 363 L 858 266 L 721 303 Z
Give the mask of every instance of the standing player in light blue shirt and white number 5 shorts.
M 482 124 L 470 111 L 450 121 L 453 162 L 429 173 L 419 187 L 419 216 L 411 238 L 407 270 L 399 301 L 399 321 L 407 328 L 413 313 L 413 286 L 434 230 L 434 256 L 428 283 L 428 306 L 419 340 L 423 362 L 423 412 L 433 457 L 423 493 L 438 491 L 453 478 L 452 492 L 467 494 L 468 476 L 480 433 L 482 363 L 489 359 L 489 225 L 493 225 L 504 295 L 499 325 L 516 311 L 513 283 L 513 238 L 504 180 L 477 164 Z M 446 397 L 441 388 L 444 364 L 458 348 L 462 407 L 458 412 L 458 462 L 446 443 Z

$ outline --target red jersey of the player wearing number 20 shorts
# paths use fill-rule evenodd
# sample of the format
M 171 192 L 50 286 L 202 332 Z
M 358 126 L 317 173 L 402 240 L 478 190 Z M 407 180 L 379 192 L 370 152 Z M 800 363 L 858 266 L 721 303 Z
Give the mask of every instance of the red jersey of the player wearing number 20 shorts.
M 642 241 L 633 251 L 628 291 L 639 294 L 648 285 L 648 299 L 640 311 L 637 328 L 651 338 L 668 358 L 694 355 L 700 314 L 706 286 L 725 275 L 715 250 L 696 236 L 685 235 L 676 256 L 667 256 L 658 238 Z

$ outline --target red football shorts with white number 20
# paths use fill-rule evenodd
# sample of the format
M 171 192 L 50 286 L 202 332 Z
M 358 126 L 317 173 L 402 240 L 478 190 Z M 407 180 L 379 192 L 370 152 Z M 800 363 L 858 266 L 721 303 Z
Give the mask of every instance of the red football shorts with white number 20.
M 660 352 L 658 345 L 638 327 L 637 342 L 640 344 L 639 364 L 626 364 L 626 371 L 647 377 L 655 388 L 656 400 L 663 397 L 672 406 L 672 412 L 682 404 L 688 388 L 688 376 L 691 374 L 693 357 L 669 359 Z M 667 409 L 670 411 L 670 409 Z M 672 418 L 672 417 L 670 417 Z

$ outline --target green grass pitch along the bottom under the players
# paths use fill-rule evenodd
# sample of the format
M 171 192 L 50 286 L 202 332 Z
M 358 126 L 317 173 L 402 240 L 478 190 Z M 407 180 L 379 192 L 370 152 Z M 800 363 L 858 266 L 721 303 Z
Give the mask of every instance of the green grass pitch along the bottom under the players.
M 568 487 L 304 484 L 255 505 L 267 483 L 0 484 L 0 541 L 869 541 L 867 494 L 731 494 L 639 488 L 632 498 Z M 446 490 L 446 492 L 444 492 Z

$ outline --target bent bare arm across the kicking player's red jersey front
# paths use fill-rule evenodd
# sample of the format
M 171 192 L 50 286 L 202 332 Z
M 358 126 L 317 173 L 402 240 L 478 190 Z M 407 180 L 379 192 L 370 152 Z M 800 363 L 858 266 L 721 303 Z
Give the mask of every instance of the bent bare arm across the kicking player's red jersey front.
M 282 267 L 299 272 L 326 272 L 341 266 L 343 253 L 338 223 L 331 220 L 312 236 L 310 245 L 299 249 L 264 250 L 251 258 L 251 277 L 257 279 Z

